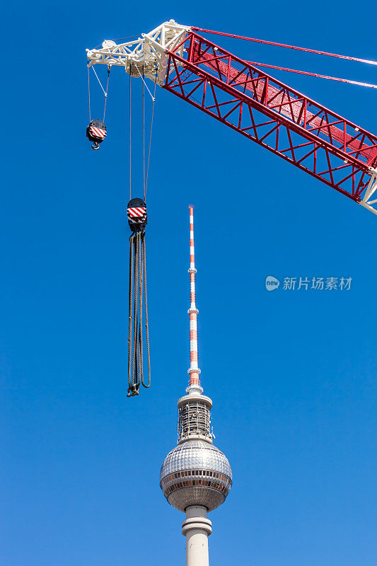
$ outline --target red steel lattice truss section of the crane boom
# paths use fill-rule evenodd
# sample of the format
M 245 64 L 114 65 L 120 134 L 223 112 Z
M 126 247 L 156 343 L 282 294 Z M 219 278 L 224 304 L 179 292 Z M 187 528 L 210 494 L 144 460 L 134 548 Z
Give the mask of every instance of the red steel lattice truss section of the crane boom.
M 167 54 L 166 90 L 360 202 L 377 136 L 197 33 Z

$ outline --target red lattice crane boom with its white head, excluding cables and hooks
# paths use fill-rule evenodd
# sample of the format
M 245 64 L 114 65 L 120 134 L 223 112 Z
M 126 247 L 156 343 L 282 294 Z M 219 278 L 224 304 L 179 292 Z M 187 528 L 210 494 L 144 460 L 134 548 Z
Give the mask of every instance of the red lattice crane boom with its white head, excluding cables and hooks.
M 151 79 L 377 214 L 377 136 L 199 30 L 170 20 L 137 40 L 105 40 L 100 49 L 86 50 L 88 67 L 120 66 L 130 76 Z

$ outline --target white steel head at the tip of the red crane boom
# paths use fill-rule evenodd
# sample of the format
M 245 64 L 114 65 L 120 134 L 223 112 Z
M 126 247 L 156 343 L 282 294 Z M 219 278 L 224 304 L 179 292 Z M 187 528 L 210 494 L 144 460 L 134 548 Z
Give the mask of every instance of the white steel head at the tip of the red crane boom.
M 180 42 L 177 54 L 182 57 L 185 46 L 183 40 L 191 28 L 174 20 L 164 22 L 149 33 L 142 33 L 137 40 L 116 43 L 105 40 L 102 49 L 86 50 L 88 67 L 100 63 L 125 67 L 134 77 L 144 76 L 163 86 L 166 78 L 166 50 L 174 50 Z

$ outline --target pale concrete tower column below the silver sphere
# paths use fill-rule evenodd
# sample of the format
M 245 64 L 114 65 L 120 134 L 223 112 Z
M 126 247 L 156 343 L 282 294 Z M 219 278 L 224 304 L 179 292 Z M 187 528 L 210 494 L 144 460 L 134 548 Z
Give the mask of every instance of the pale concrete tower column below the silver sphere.
M 207 519 L 207 509 L 202 505 L 190 505 L 182 522 L 182 535 L 186 537 L 186 566 L 209 566 L 208 537 L 212 524 Z

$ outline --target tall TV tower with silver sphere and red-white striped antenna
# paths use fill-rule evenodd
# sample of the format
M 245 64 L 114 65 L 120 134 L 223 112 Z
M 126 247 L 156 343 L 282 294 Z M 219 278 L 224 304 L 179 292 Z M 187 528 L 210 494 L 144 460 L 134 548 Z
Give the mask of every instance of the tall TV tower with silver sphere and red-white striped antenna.
M 203 395 L 197 364 L 197 307 L 195 305 L 194 209 L 190 207 L 190 374 L 187 395 L 178 399 L 178 446 L 161 466 L 160 487 L 170 505 L 185 512 L 186 566 L 209 566 L 207 512 L 224 503 L 232 485 L 226 456 L 214 446 L 212 401 Z

